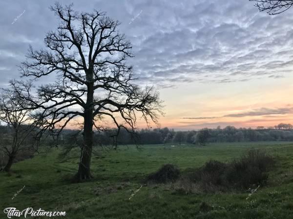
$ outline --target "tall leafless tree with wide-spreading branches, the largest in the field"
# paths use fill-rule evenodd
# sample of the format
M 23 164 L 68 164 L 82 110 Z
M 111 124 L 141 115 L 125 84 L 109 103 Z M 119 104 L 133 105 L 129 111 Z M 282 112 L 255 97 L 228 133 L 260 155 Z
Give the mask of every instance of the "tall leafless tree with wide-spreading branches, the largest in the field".
M 118 128 L 136 131 L 137 117 L 158 124 L 162 114 L 159 94 L 152 87 L 133 83 L 131 44 L 117 30 L 118 21 L 105 13 L 79 13 L 72 4 L 55 3 L 51 10 L 60 19 L 55 32 L 45 37 L 46 50 L 29 48 L 22 63 L 22 76 L 40 78 L 55 74 L 57 81 L 40 86 L 37 95 L 23 82 L 12 82 L 21 98 L 43 109 L 46 128 L 61 131 L 73 119 L 83 118 L 83 138 L 77 181 L 92 178 L 90 161 L 93 128 L 103 131 L 105 121 Z M 117 133 L 117 134 L 118 134 Z

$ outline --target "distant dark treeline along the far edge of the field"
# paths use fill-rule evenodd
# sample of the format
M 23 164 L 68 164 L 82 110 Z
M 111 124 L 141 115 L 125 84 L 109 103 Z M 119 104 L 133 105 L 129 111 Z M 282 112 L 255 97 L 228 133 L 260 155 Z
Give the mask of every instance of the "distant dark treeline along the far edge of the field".
M 117 129 L 109 129 L 105 132 L 96 132 L 94 139 L 96 145 L 154 145 L 154 144 L 199 144 L 224 143 L 224 142 L 257 142 L 257 141 L 293 141 L 293 130 L 289 128 L 203 128 L 201 130 L 174 131 L 169 128 L 141 129 L 137 134 L 131 134 L 121 129 L 118 137 L 115 137 Z M 67 136 L 66 136 L 67 135 Z M 71 131 L 63 135 L 64 141 L 68 141 Z M 67 140 L 66 140 L 67 139 Z M 72 139 L 72 138 L 71 138 Z

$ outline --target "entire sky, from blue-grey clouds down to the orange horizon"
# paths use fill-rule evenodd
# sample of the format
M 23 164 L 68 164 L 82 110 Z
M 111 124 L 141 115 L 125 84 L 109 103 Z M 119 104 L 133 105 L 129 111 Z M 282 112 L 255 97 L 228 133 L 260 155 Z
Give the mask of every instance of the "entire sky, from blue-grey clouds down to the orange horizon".
M 270 16 L 248 0 L 60 2 L 121 22 L 137 83 L 155 86 L 164 100 L 161 127 L 293 123 L 293 9 Z M 58 25 L 53 3 L 0 1 L 0 86 L 19 78 L 29 44 L 44 48 L 45 34 Z

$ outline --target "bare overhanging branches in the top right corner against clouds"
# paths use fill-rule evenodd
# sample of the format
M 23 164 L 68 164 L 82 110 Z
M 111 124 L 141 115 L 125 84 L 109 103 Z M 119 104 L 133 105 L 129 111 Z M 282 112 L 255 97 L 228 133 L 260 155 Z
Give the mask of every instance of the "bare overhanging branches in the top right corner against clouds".
M 293 5 L 293 0 L 250 0 L 256 1 L 259 11 L 267 11 L 269 15 L 277 15 L 287 11 Z

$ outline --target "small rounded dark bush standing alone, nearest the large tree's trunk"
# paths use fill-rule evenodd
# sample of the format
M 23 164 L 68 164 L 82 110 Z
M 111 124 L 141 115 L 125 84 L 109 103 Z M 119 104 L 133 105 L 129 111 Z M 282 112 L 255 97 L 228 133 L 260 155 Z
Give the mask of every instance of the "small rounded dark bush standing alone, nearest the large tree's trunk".
M 180 177 L 180 170 L 173 164 L 164 164 L 157 172 L 147 176 L 146 181 L 152 183 L 174 182 Z

